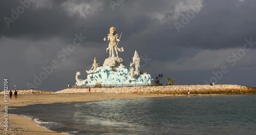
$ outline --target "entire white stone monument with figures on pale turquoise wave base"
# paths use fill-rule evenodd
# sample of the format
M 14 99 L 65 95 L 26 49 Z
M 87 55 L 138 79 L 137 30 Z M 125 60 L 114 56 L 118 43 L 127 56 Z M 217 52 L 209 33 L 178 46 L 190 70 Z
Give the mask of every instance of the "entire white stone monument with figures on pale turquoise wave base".
M 116 34 L 116 28 L 111 27 L 108 37 L 104 37 L 104 41 L 109 41 L 109 47 L 106 48 L 106 52 L 109 52 L 109 57 L 103 62 L 103 65 L 97 63 L 96 57 L 92 68 L 88 73 L 87 79 L 79 79 L 80 72 L 76 73 L 76 85 L 116 85 L 116 84 L 151 84 L 152 80 L 150 74 L 140 70 L 140 58 L 135 51 L 133 60 L 129 65 L 125 66 L 125 62 L 118 56 L 118 52 L 123 52 L 123 48 L 118 48 L 118 42 L 120 41 L 122 33 L 118 36 Z M 116 55 L 116 56 L 115 56 Z

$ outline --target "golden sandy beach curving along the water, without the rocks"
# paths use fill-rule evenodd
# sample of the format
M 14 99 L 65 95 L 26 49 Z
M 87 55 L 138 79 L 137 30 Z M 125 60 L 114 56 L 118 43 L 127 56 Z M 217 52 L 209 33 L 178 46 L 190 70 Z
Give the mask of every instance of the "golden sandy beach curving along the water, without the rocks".
M 4 96 L 4 95 L 1 95 Z M 1 115 L 1 130 L 0 134 L 63 134 L 51 132 L 44 127 L 39 127 L 38 124 L 26 117 L 13 115 L 11 110 L 16 106 L 26 106 L 30 104 L 48 104 L 59 102 L 86 102 L 100 101 L 109 99 L 132 99 L 132 98 L 148 98 L 148 97 L 163 97 L 164 95 L 135 95 L 135 94 L 102 94 L 102 93 L 83 93 L 83 94 L 25 94 L 18 95 L 18 99 L 8 99 L 8 131 L 4 130 L 4 115 Z M 4 114 L 4 100 L 0 101 L 1 112 Z

